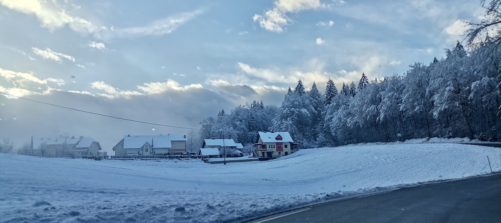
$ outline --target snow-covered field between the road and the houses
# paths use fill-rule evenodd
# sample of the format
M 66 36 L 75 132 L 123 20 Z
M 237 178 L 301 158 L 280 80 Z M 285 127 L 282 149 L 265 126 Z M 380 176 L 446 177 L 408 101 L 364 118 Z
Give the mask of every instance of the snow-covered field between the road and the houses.
M 0 154 L 2 222 L 234 222 L 336 197 L 501 171 L 501 149 L 383 144 L 266 162 Z

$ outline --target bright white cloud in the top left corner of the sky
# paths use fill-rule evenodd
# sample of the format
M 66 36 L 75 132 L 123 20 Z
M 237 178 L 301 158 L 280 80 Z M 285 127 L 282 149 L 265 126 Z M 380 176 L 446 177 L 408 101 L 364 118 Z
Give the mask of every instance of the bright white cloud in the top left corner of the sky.
M 0 0 L 0 4 L 11 10 L 35 15 L 42 23 L 42 27 L 51 31 L 63 28 L 66 25 L 76 32 L 85 34 L 95 33 L 101 29 L 88 20 L 70 15 L 71 8 L 78 10 L 78 7 L 65 5 L 67 1 L 64 1 L 62 5 L 59 5 L 59 3 L 37 0 Z

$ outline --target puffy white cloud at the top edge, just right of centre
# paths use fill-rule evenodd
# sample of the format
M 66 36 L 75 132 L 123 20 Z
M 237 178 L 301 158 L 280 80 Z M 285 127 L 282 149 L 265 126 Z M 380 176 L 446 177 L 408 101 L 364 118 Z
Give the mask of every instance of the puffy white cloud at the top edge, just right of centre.
M 274 8 L 264 12 L 264 15 L 255 14 L 254 22 L 258 22 L 261 28 L 271 32 L 281 33 L 284 26 L 290 25 L 293 21 L 287 16 L 288 13 L 299 13 L 305 10 L 312 10 L 325 7 L 320 0 L 277 0 Z

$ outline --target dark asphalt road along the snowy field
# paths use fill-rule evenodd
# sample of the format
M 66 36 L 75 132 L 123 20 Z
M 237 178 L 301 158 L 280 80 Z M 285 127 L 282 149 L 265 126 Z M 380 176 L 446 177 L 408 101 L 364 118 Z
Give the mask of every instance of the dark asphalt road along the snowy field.
M 332 201 L 253 222 L 501 222 L 501 174 Z

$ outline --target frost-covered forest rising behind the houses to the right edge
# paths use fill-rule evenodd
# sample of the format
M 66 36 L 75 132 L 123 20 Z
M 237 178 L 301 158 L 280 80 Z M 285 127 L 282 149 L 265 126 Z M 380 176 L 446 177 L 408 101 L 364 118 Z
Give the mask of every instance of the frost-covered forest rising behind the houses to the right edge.
M 340 91 L 332 80 L 324 93 L 299 80 L 280 107 L 261 100 L 229 114 L 221 110 L 200 122 L 199 136 L 221 138 L 224 131 L 247 148 L 258 131 L 288 131 L 301 148 L 427 137 L 498 141 L 501 7 L 498 0 L 482 6 L 485 18 L 468 23 L 467 48 L 457 42 L 444 49 L 445 58 L 416 62 L 401 75 L 369 79 L 362 73 L 357 84 L 343 83 Z

